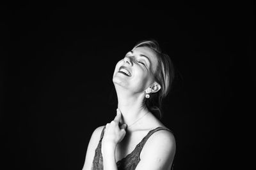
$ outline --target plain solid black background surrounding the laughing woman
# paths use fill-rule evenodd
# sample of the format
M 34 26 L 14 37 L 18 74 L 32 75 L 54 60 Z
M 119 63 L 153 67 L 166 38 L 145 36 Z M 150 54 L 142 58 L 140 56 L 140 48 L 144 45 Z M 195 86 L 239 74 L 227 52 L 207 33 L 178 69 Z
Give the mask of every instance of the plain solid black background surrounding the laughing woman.
M 234 143 L 253 114 L 255 2 L 10 2 L 0 24 L 1 169 L 82 169 L 93 130 L 115 117 L 116 62 L 148 38 L 176 68 L 162 120 L 175 169 L 245 156 Z

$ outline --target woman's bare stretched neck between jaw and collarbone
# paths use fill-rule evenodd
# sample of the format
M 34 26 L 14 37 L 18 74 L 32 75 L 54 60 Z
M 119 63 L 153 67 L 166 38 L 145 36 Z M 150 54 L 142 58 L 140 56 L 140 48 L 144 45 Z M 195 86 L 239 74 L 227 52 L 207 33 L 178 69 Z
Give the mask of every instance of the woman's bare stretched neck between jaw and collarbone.
M 116 92 L 118 108 L 122 113 L 122 121 L 124 124 L 127 124 L 128 127 L 148 113 L 148 109 L 143 103 L 145 94 L 131 94 L 131 92 L 124 90 L 122 90 L 122 92 L 116 90 Z M 139 122 L 140 120 L 138 121 L 138 124 Z M 137 124 L 137 122 L 135 124 Z

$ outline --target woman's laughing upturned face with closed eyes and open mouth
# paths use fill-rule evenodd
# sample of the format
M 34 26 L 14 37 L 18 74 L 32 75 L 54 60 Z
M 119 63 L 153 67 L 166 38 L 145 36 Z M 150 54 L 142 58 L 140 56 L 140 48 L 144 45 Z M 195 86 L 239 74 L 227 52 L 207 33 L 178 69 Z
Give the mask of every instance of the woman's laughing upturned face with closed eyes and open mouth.
M 128 52 L 115 67 L 113 83 L 131 92 L 143 92 L 154 83 L 157 56 L 148 47 L 137 47 Z

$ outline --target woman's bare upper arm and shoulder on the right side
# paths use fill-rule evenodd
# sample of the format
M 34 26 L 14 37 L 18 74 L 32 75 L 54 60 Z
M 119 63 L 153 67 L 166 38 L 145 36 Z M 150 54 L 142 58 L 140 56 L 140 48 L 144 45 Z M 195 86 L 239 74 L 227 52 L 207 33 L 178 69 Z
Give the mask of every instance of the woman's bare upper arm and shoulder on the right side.
M 157 131 L 145 143 L 136 169 L 170 169 L 175 150 L 176 143 L 172 132 Z

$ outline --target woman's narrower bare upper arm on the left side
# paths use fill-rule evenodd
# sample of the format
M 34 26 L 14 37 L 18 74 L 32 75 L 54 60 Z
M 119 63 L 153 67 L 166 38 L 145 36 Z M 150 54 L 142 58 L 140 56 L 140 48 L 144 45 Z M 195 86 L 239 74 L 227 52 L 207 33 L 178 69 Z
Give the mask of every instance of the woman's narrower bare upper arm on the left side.
M 97 129 L 95 129 L 92 133 L 92 136 L 91 136 L 91 139 L 88 144 L 87 151 L 86 151 L 86 157 L 85 157 L 85 161 L 84 161 L 83 170 L 92 168 L 92 162 L 93 162 L 93 158 L 95 155 L 95 149 L 98 146 L 100 134 L 101 134 L 103 128 L 104 128 L 104 126 L 97 127 Z

